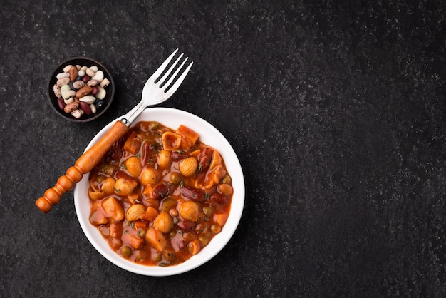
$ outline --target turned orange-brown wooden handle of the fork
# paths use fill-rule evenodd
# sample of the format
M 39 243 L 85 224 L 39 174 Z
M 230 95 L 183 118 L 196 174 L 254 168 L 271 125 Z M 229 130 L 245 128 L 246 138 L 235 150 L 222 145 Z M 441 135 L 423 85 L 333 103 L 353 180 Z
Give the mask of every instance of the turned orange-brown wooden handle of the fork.
M 73 167 L 68 168 L 66 174 L 58 178 L 56 185 L 48 188 L 36 200 L 36 206 L 43 213 L 48 213 L 53 205 L 60 202 L 62 195 L 73 189 L 74 185 L 81 181 L 83 174 L 92 170 L 99 163 L 101 158 L 111 148 L 113 143 L 122 138 L 128 132 L 128 127 L 122 121 L 116 121 L 113 127 L 95 143 L 90 149 L 81 155 Z

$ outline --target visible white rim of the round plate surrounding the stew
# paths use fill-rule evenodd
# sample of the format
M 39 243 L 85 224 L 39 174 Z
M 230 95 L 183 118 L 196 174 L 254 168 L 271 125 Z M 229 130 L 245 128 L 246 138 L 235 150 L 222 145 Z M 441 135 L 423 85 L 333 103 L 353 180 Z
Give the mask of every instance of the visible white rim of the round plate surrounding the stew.
M 120 117 L 122 118 L 122 117 Z M 120 118 L 116 120 L 120 120 Z M 113 126 L 115 123 L 109 123 L 105 128 L 100 130 L 98 135 L 91 140 L 85 150 L 88 150 L 93 144 L 97 143 L 100 138 Z M 234 152 L 234 149 L 229 144 L 222 133 L 214 128 L 207 121 L 199 118 L 196 115 L 187 113 L 185 111 L 175 110 L 173 108 L 147 108 L 141 113 L 141 115 L 134 121 L 157 121 L 168 128 L 177 129 L 178 126 L 185 125 L 192 130 L 199 133 L 199 140 L 202 143 L 214 147 L 219 151 L 224 159 L 224 163 L 227 167 L 229 175 L 232 178 L 232 187 L 234 188 L 234 194 L 232 197 L 231 211 L 229 217 L 224 225 L 222 232 L 215 235 L 215 237 L 209 242 L 209 244 L 203 248 L 197 255 L 192 256 L 189 260 L 182 264 L 178 264 L 171 267 L 157 267 L 157 266 L 145 266 L 141 264 L 135 264 L 123 257 L 120 257 L 116 252 L 111 250 L 108 246 L 108 242 L 100 235 L 100 232 L 96 227 L 90 224 L 88 217 L 90 215 L 90 204 L 88 203 L 88 174 L 83 175 L 83 179 L 77 183 L 74 190 L 74 204 L 76 207 L 76 214 L 81 224 L 85 236 L 91 242 L 101 255 L 107 260 L 112 262 L 122 269 L 134 272 L 137 274 L 147 276 L 170 276 L 174 274 L 180 274 L 190 271 L 209 261 L 219 253 L 227 242 L 234 235 L 237 225 L 239 225 L 240 217 L 242 217 L 242 211 L 244 207 L 244 177 L 242 167 L 239 159 Z M 229 260 L 228 260 L 229 261 Z

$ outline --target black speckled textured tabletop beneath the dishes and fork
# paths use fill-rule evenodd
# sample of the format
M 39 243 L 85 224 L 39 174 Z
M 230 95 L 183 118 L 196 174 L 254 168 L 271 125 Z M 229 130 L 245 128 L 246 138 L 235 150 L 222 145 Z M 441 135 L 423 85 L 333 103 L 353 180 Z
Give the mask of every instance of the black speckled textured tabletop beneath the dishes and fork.
M 445 297 L 446 5 L 202 2 L 2 1 L 0 296 Z M 90 245 L 73 192 L 34 201 L 177 47 L 195 66 L 161 106 L 222 131 L 246 205 L 210 262 L 142 277 Z M 71 56 L 115 79 L 92 123 L 46 100 Z

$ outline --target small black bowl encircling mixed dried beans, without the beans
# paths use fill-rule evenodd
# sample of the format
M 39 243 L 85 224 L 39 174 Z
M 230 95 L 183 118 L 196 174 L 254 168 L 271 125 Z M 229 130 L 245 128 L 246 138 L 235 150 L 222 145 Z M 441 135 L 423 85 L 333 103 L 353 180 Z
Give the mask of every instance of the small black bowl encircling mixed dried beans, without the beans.
M 71 115 L 71 113 L 65 113 L 65 111 L 61 110 L 61 108 L 59 108 L 58 105 L 58 98 L 56 96 L 56 94 L 54 94 L 54 84 L 56 84 L 57 78 L 56 76 L 58 75 L 58 73 L 63 73 L 63 68 L 65 68 L 68 65 L 80 65 L 82 66 L 87 66 L 88 68 L 90 68 L 91 66 L 98 66 L 98 70 L 103 71 L 104 73 L 104 78 L 108 78 L 108 81 L 110 81 L 110 83 L 108 84 L 107 87 L 105 87 L 105 98 L 103 99 L 104 103 L 103 106 L 101 108 L 98 108 L 96 113 L 91 113 L 90 115 L 87 114 L 83 114 L 81 115 L 80 118 L 76 118 L 73 115 Z M 50 81 L 48 83 L 48 99 L 50 101 L 51 106 L 53 107 L 53 110 L 58 114 L 61 115 L 61 117 L 71 120 L 73 122 L 88 122 L 91 120 L 95 120 L 96 118 L 98 118 L 100 115 L 102 115 L 105 111 L 107 111 L 107 109 L 110 107 L 110 104 L 113 101 L 113 96 L 115 95 L 115 82 L 113 81 L 113 77 L 111 76 L 110 72 L 108 71 L 107 68 L 105 68 L 105 66 L 103 66 L 102 63 L 100 63 L 99 61 L 96 61 L 95 59 L 92 58 L 88 58 L 88 57 L 73 57 L 73 58 L 69 58 L 66 61 L 63 61 L 61 64 L 59 64 L 59 66 L 56 68 L 56 70 L 51 74 L 51 78 Z

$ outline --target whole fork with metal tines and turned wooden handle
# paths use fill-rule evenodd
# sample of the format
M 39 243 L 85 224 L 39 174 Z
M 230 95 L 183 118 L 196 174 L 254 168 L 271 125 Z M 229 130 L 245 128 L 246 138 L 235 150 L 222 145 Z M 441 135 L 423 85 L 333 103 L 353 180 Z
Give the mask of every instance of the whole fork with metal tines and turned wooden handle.
M 182 71 L 180 76 L 177 77 L 187 61 L 187 58 L 185 58 L 181 65 L 176 68 L 177 63 L 183 56 L 183 53 L 181 53 L 180 57 L 177 58 L 175 63 L 173 63 L 172 66 L 165 71 L 177 51 L 178 49 L 176 49 L 169 56 L 169 58 L 167 58 L 166 61 L 161 64 L 157 71 L 150 76 L 147 82 L 145 82 L 144 88 L 142 89 L 142 99 L 140 103 L 138 103 L 138 105 L 131 109 L 127 114 L 123 115 L 123 118 L 116 121 L 113 127 L 110 128 L 107 133 L 105 133 L 103 138 L 98 140 L 98 143 L 95 143 L 95 145 L 85 151 L 85 153 L 83 153 L 83 155 L 76 160 L 76 163 L 72 167 L 68 168 L 66 174 L 58 178 L 56 185 L 48 188 L 48 190 L 46 190 L 46 192 L 43 194 L 43 197 L 39 197 L 38 200 L 36 200 L 36 206 L 38 209 L 40 209 L 43 213 L 48 213 L 53 205 L 60 202 L 62 195 L 73 189 L 74 185 L 81 181 L 83 174 L 90 172 L 90 170 L 95 167 L 101 158 L 103 158 L 103 155 L 107 153 L 111 146 L 117 140 L 122 138 L 125 133 L 128 133 L 130 125 L 136 118 L 138 118 L 138 115 L 140 115 L 140 113 L 147 108 L 147 106 L 153 106 L 157 103 L 167 101 L 167 99 L 170 98 L 175 91 L 177 91 L 193 64 L 193 62 L 191 62 L 187 68 Z M 174 69 L 176 70 L 172 73 Z M 164 73 L 164 75 L 162 75 L 162 73 Z M 160 76 L 162 77 L 160 78 Z

